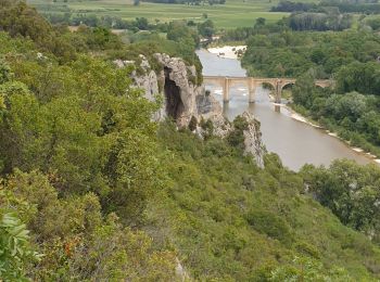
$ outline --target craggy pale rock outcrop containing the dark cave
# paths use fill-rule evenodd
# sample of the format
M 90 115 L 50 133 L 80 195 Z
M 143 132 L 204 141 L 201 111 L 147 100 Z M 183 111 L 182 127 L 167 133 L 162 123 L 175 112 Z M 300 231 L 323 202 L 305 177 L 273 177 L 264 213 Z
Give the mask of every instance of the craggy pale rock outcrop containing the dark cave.
M 139 72 L 134 70 L 131 78 L 135 87 L 144 91 L 144 97 L 153 101 L 156 94 L 164 97 L 161 111 L 154 116 L 162 120 L 170 116 L 179 127 L 188 126 L 192 116 L 200 119 L 202 116 L 208 118 L 213 115 L 221 115 L 218 102 L 207 95 L 203 86 L 198 86 L 197 69 L 188 66 L 180 57 L 170 57 L 167 54 L 154 54 L 162 66 L 162 70 L 155 73 L 149 61 L 140 55 Z M 119 67 L 136 64 L 135 61 L 115 61 Z

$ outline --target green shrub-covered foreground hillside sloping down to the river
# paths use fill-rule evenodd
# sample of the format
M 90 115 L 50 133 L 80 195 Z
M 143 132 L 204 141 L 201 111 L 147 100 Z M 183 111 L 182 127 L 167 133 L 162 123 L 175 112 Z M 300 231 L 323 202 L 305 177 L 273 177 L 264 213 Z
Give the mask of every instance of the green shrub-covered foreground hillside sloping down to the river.
M 183 56 L 201 81 L 183 26 L 125 44 L 11 3 L 0 0 L 1 280 L 379 281 L 378 167 L 293 172 L 266 153 L 261 168 L 242 117 L 225 138 L 203 119 L 153 120 L 173 97 L 134 86 L 141 53 L 159 74 L 153 53 Z

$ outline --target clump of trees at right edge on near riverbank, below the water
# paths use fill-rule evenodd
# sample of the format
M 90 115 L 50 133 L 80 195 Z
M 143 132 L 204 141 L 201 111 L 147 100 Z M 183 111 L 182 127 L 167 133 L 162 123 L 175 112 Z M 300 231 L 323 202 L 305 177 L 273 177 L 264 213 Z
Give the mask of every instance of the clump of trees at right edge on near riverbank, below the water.
M 340 220 L 380 243 L 380 170 L 337 161 L 330 169 L 306 166 L 302 174 L 309 192 Z

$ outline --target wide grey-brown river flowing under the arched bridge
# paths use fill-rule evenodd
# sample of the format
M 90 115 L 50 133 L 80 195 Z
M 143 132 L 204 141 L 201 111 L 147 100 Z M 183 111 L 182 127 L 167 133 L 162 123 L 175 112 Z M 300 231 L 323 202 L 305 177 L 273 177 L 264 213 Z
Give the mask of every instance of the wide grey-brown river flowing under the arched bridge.
M 199 50 L 203 65 L 203 75 L 245 76 L 245 69 L 235 59 L 223 59 L 206 50 Z M 221 88 L 206 85 L 214 97 L 223 103 Z M 244 86 L 230 88 L 230 101 L 224 104 L 225 116 L 232 120 L 237 115 L 249 111 L 261 121 L 263 142 L 269 152 L 278 154 L 282 164 L 292 170 L 299 170 L 304 164 L 328 166 L 335 158 L 355 159 L 358 164 L 373 162 L 363 153 L 353 151 L 346 143 L 329 136 L 325 130 L 315 128 L 291 117 L 286 108 L 275 106 L 269 91 L 257 88 L 255 103 L 249 104 Z

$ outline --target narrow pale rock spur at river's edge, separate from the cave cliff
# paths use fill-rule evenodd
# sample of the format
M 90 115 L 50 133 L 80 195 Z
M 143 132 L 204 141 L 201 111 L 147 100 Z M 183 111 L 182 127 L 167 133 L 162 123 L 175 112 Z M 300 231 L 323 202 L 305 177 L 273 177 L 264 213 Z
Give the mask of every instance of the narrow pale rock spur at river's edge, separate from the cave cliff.
M 256 165 L 264 168 L 264 153 L 265 149 L 262 142 L 262 131 L 259 130 L 259 121 L 248 112 L 242 115 L 248 121 L 248 129 L 243 131 L 244 134 L 244 153 L 252 155 Z

